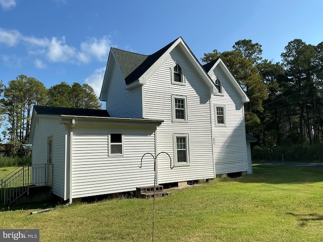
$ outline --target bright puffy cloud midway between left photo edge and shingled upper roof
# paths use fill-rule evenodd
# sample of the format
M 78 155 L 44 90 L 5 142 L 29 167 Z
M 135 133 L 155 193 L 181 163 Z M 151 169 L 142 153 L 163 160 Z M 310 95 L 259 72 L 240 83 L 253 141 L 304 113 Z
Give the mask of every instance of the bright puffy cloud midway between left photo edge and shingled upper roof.
M 47 57 L 52 62 L 67 62 L 71 61 L 75 56 L 75 48 L 65 44 L 65 37 L 62 40 L 58 40 L 56 37 L 52 37 L 48 46 Z

